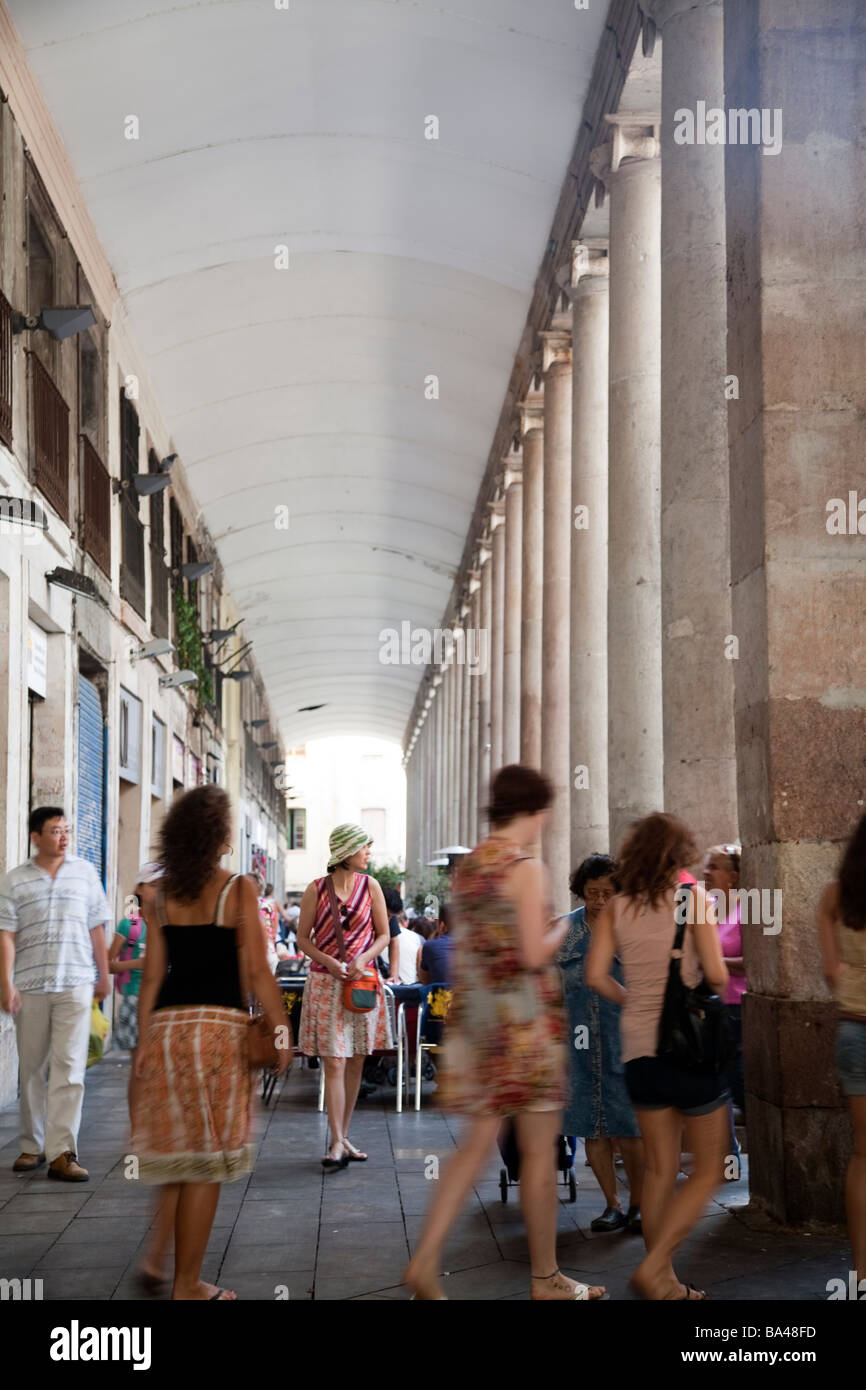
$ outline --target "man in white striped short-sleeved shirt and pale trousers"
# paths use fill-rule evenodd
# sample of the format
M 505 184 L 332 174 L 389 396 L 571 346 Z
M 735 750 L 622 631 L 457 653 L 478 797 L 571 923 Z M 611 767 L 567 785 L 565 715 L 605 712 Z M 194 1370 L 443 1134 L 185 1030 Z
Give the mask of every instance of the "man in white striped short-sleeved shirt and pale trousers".
M 63 809 L 40 806 L 29 828 L 32 859 L 0 880 L 0 1008 L 15 1017 L 21 1072 L 21 1154 L 13 1169 L 29 1173 L 47 1158 L 49 1177 L 86 1183 L 78 1127 L 90 1005 L 110 988 L 111 913 L 93 866 L 67 855 Z

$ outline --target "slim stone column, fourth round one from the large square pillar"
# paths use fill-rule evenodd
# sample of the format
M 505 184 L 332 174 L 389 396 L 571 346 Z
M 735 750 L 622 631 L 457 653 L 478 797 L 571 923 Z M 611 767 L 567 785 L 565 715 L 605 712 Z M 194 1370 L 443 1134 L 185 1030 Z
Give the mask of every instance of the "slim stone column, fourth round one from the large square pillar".
M 544 835 L 553 903 L 570 905 L 571 870 L 571 313 L 541 335 L 545 374 L 541 770 L 553 784 Z

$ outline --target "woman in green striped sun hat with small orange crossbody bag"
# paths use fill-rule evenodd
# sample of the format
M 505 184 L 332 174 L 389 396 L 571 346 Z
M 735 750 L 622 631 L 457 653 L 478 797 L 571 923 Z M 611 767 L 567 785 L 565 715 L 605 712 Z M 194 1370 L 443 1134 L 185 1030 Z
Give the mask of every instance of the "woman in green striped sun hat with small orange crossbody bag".
M 371 837 L 360 826 L 331 831 L 328 873 L 307 884 L 300 899 L 297 949 L 310 958 L 303 991 L 299 1051 L 321 1058 L 331 1148 L 322 1168 L 334 1173 L 367 1154 L 349 1141 L 349 1126 L 361 1084 L 364 1058 L 392 1047 L 391 1022 L 379 990 L 375 1009 L 352 1013 L 343 1008 L 343 984 L 357 980 L 389 941 L 385 897 L 366 873 Z M 336 894 L 343 951 L 341 951 L 329 884 Z M 345 958 L 343 958 L 345 956 Z

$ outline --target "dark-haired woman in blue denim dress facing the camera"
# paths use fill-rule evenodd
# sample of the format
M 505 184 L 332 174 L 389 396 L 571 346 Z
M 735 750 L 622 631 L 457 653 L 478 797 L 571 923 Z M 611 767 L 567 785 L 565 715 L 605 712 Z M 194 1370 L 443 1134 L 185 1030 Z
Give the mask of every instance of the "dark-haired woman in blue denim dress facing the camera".
M 605 1211 L 591 1225 L 595 1232 L 641 1232 L 644 1145 L 634 1118 L 620 1055 L 620 1011 L 587 984 L 587 955 L 595 924 L 617 891 L 616 862 L 589 855 L 569 884 L 582 908 L 570 915 L 569 934 L 557 962 L 569 1011 L 569 1081 L 563 1127 L 585 1141 L 587 1159 L 605 1197 Z M 613 977 L 623 981 L 619 960 Z M 628 1175 L 628 1212 L 620 1207 L 613 1147 L 619 1145 Z

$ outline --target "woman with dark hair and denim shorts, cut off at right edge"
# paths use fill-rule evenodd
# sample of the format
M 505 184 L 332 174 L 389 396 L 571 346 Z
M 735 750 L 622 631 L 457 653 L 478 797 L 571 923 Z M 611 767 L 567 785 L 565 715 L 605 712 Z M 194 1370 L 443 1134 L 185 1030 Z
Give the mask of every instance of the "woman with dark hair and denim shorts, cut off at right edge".
M 817 910 L 824 979 L 835 997 L 835 1065 L 851 1108 L 853 1151 L 845 1182 L 848 1234 L 858 1282 L 866 1279 L 866 816 Z

